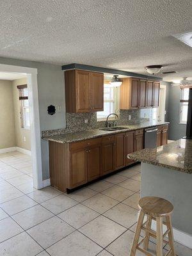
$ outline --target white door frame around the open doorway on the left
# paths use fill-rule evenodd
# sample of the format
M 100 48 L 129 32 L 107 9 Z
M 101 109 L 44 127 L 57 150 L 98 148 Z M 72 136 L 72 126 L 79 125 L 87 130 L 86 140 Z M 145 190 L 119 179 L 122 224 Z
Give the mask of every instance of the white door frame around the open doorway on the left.
M 23 73 L 27 76 L 31 121 L 31 158 L 33 166 L 33 187 L 36 189 L 41 189 L 44 187 L 44 184 L 42 180 L 41 133 L 38 108 L 38 85 L 36 77 L 37 68 L 0 64 L 0 72 Z

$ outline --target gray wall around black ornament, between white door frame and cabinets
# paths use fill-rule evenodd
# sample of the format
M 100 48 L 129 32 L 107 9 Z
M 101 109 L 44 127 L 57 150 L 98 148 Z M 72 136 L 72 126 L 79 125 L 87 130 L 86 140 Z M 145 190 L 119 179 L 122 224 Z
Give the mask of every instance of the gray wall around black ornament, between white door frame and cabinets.
M 35 61 L 0 58 L 1 64 L 37 68 L 38 100 L 40 109 L 40 129 L 60 129 L 65 127 L 65 90 L 64 74 L 58 65 L 49 65 Z M 61 112 L 49 116 L 47 106 L 61 106 Z M 42 172 L 43 179 L 49 178 L 48 143 L 42 140 Z

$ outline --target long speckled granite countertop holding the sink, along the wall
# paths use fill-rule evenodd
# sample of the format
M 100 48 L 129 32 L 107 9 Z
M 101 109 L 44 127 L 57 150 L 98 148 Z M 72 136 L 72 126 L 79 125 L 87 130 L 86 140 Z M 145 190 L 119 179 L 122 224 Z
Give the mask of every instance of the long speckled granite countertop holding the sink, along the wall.
M 44 136 L 42 139 L 55 141 L 58 143 L 70 143 L 74 141 L 87 140 L 92 138 L 97 138 L 104 135 L 115 134 L 118 132 L 132 131 L 137 129 L 143 129 L 148 127 L 153 127 L 156 125 L 169 124 L 168 122 L 141 122 L 140 124 L 134 125 L 118 125 L 118 127 L 125 127 L 123 130 L 118 131 L 103 131 L 100 129 L 92 129 L 89 131 L 81 131 L 81 132 L 70 132 L 65 134 L 56 134 L 51 136 Z

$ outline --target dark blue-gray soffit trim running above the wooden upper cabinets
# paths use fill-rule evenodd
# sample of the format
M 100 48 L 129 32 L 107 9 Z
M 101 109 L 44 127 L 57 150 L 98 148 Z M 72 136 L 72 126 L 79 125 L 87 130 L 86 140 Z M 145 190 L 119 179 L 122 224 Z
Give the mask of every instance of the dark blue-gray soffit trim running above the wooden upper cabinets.
M 113 69 L 113 68 L 95 67 L 95 66 L 77 64 L 77 63 L 72 63 L 72 64 L 62 66 L 62 70 L 71 70 L 71 69 L 88 70 L 88 71 L 93 71 L 93 72 L 109 73 L 109 74 L 116 74 L 116 75 L 123 75 L 123 76 L 131 76 L 131 77 L 152 79 L 152 80 L 157 80 L 157 81 L 162 81 L 163 80 L 161 77 L 146 76 L 146 75 L 137 74 L 137 73 L 133 73 L 133 72 L 128 72 L 128 71 L 124 71 L 124 70 L 118 70 L 118 69 Z

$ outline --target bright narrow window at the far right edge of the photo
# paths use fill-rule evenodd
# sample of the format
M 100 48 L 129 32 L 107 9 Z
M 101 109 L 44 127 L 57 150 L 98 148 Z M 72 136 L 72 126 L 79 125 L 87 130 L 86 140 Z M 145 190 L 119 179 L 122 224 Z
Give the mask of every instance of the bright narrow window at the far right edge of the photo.
M 180 124 L 186 124 L 188 119 L 189 88 L 181 90 L 180 99 Z

